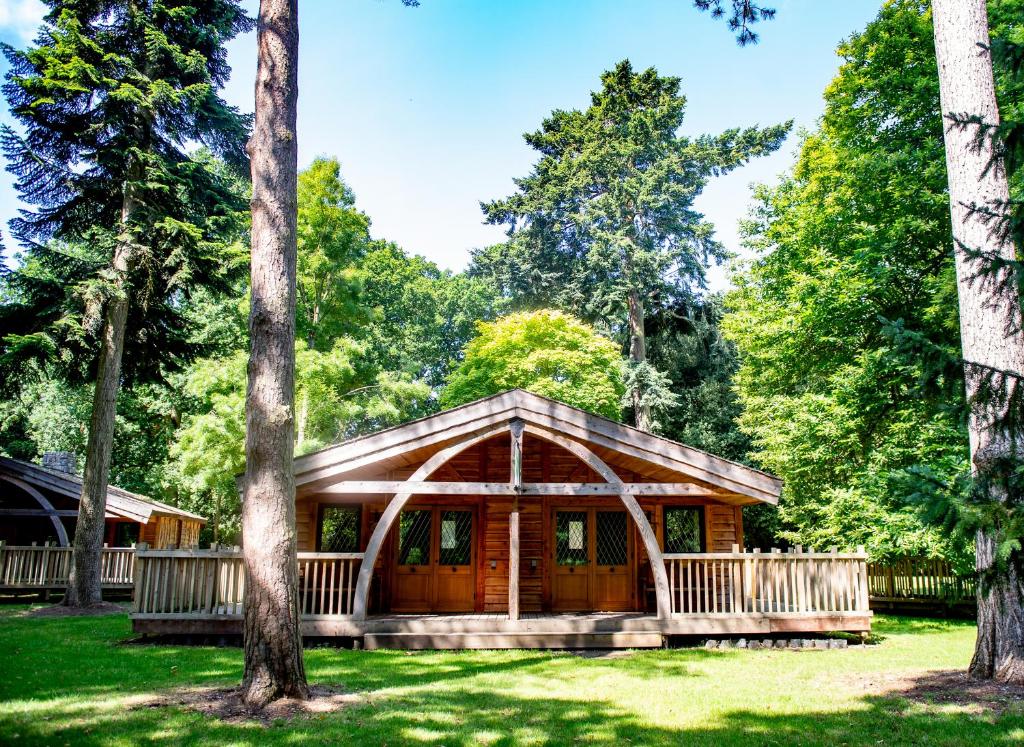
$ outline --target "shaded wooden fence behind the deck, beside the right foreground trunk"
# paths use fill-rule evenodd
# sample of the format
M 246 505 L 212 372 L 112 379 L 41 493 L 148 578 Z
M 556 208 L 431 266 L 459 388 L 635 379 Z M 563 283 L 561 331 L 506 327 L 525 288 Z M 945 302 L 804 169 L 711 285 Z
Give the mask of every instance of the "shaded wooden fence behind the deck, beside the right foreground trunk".
M 877 601 L 973 601 L 974 577 L 957 574 L 947 561 L 905 557 L 867 564 L 867 587 Z

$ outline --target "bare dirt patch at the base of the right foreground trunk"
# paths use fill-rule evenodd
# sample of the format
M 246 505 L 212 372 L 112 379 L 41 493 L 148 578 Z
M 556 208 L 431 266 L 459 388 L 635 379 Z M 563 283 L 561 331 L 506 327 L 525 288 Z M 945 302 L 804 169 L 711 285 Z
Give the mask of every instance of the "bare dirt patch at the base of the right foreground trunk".
M 864 695 L 899 697 L 927 705 L 955 706 L 978 714 L 997 716 L 1010 709 L 1024 710 L 1024 686 L 974 679 L 967 672 L 956 669 L 918 675 L 860 675 L 850 677 L 842 686 Z

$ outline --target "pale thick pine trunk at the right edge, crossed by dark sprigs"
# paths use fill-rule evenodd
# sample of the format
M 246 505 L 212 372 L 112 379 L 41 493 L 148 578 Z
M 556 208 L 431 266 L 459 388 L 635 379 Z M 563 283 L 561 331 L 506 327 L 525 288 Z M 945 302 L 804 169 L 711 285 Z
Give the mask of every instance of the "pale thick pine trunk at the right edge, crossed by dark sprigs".
M 1024 335 L 1020 328 L 1020 298 L 1013 291 L 993 295 L 995 282 L 981 280 L 983 250 L 1004 259 L 1015 257 L 1012 240 L 993 233 L 974 208 L 1000 209 L 1010 199 L 1006 170 L 995 158 L 992 142 L 979 138 L 979 125 L 963 124 L 980 117 L 985 125 L 999 122 L 989 51 L 985 0 L 934 0 L 935 53 L 939 66 L 942 115 L 945 120 L 946 165 L 952 211 L 956 284 L 959 294 L 961 339 L 964 347 L 967 393 L 972 402 L 971 456 L 976 472 L 989 465 L 1020 458 L 1020 433 L 1008 432 L 998 422 L 1001 406 L 982 406 L 977 393 L 985 385 L 981 367 L 1024 372 Z M 1013 284 L 1008 284 L 1012 288 Z M 972 365 L 976 364 L 976 365 Z M 1004 381 L 1002 383 L 1006 383 Z M 996 500 L 1006 500 L 993 487 Z M 976 565 L 979 577 L 990 576 L 996 537 L 979 533 Z M 1011 569 L 978 591 L 978 642 L 971 673 L 1004 681 L 1024 681 L 1024 585 Z

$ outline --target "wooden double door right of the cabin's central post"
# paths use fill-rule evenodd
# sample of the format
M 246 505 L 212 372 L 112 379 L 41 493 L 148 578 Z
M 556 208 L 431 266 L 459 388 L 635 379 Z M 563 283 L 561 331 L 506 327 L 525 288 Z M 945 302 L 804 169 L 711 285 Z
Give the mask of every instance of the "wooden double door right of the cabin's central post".
M 621 509 L 554 510 L 553 612 L 625 612 L 634 608 L 629 514 Z

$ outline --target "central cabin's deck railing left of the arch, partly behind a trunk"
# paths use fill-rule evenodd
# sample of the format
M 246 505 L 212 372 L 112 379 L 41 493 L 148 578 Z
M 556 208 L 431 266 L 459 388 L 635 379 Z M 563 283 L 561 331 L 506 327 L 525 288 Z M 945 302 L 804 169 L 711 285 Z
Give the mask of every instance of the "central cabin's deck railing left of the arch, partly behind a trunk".
M 351 615 L 362 554 L 300 552 L 299 612 L 303 617 Z M 136 615 L 238 617 L 245 569 L 230 550 L 150 550 L 136 555 Z

